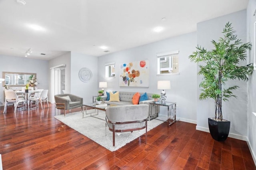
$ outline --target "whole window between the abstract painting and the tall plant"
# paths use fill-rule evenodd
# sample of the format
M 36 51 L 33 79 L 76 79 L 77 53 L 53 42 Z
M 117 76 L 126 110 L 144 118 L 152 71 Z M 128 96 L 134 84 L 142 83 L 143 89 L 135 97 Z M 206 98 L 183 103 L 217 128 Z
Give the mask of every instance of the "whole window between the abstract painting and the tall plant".
M 157 74 L 179 73 L 179 51 L 160 53 L 157 57 Z

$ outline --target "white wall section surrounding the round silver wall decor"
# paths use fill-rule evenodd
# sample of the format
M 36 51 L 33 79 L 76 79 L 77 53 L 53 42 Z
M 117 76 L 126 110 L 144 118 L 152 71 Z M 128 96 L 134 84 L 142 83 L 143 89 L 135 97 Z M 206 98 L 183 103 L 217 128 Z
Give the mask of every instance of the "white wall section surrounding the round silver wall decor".
M 92 71 L 92 79 L 82 82 L 79 79 L 79 70 L 86 67 Z M 98 95 L 98 58 L 80 53 L 71 52 L 71 93 L 83 97 L 84 103 L 92 103 L 92 96 Z

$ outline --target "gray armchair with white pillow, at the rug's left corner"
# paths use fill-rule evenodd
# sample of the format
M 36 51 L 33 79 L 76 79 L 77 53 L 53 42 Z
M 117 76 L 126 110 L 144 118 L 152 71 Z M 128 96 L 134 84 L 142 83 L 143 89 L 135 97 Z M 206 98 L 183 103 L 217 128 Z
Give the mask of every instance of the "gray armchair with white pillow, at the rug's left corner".
M 55 108 L 64 110 L 64 116 L 66 117 L 66 110 L 81 107 L 81 112 L 83 111 L 83 98 L 72 95 L 72 94 L 59 94 L 54 96 Z

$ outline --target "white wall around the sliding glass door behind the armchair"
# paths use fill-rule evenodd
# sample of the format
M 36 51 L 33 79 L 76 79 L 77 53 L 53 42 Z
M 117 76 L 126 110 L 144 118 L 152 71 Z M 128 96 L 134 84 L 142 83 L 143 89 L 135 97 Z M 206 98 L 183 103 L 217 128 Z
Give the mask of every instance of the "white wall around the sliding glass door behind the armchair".
M 61 65 L 61 64 L 66 64 L 66 68 L 65 68 L 65 90 L 66 93 L 70 93 L 70 79 L 71 79 L 71 52 L 67 52 L 63 55 L 60 55 L 59 57 L 55 57 L 54 59 L 51 59 L 49 61 L 49 65 L 48 65 L 48 70 L 49 70 L 49 74 L 48 74 L 48 80 L 50 82 L 50 68 L 51 67 L 55 67 L 57 65 Z M 49 87 L 48 87 L 49 91 L 48 91 L 48 95 L 51 94 L 51 88 L 50 88 L 50 83 L 49 83 Z M 54 101 L 51 101 L 52 103 L 54 103 Z

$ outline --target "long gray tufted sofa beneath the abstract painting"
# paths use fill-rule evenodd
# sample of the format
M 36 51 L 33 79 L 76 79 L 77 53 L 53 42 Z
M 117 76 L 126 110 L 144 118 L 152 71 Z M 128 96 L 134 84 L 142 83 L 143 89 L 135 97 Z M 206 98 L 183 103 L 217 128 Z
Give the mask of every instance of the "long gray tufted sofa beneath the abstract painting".
M 120 101 L 106 101 L 107 97 L 104 96 L 102 99 L 104 100 L 105 103 L 107 104 L 112 104 L 112 105 L 132 105 L 132 97 L 136 92 L 126 92 L 126 91 L 119 91 L 119 100 Z M 140 95 L 143 95 L 144 93 L 140 93 Z M 146 101 L 141 101 L 139 104 L 146 104 L 149 105 L 150 102 L 154 101 L 152 98 L 153 93 L 147 93 L 148 95 L 148 100 Z M 158 116 L 159 113 L 159 106 L 154 106 L 154 107 L 148 107 L 148 118 L 149 120 L 154 119 Z

